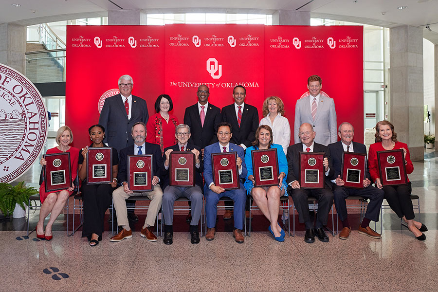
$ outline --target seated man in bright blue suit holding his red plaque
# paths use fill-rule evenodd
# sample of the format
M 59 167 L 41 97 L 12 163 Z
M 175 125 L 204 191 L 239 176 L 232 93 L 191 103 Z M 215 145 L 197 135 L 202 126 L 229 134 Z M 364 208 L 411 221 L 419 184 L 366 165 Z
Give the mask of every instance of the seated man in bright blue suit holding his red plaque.
M 232 127 L 227 122 L 218 124 L 218 140 L 204 149 L 204 196 L 205 214 L 207 216 L 207 234 L 205 239 L 215 239 L 216 216 L 218 202 L 221 197 L 234 201 L 234 231 L 233 237 L 237 243 L 243 243 L 243 216 L 245 211 L 246 191 L 240 179 L 245 179 L 247 170 L 244 162 L 243 148 L 230 143 Z M 228 155 L 221 156 L 221 154 Z M 236 155 L 237 152 L 237 155 Z M 226 157 L 225 157 L 226 156 Z M 237 158 L 235 158 L 237 156 Z M 218 159 L 214 159 L 218 157 Z M 233 161 L 235 159 L 235 161 Z M 231 162 L 229 162 L 231 160 Z M 233 164 L 233 162 L 235 164 Z

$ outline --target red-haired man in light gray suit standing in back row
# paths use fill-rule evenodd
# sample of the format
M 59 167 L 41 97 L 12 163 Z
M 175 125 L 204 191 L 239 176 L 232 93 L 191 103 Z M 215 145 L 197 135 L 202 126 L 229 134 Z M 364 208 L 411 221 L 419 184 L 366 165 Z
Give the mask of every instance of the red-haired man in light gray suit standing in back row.
M 321 77 L 311 75 L 307 79 L 309 96 L 298 99 L 295 105 L 295 122 L 293 137 L 296 143 L 300 143 L 298 136 L 299 128 L 303 123 L 313 126 L 316 138 L 315 142 L 322 145 L 329 145 L 338 141 L 336 131 L 336 110 L 334 101 L 328 96 L 320 94 L 322 88 Z

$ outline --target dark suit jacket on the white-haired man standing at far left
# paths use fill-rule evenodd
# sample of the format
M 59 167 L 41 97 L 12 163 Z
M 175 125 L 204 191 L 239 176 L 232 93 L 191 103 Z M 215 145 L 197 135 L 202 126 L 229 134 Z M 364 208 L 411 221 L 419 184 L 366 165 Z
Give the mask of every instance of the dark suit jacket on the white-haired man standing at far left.
M 100 112 L 99 124 L 105 127 L 104 143 L 114 147 L 117 151 L 134 145 L 131 128 L 137 122 L 147 123 L 146 100 L 132 95 L 131 118 L 128 120 L 125 105 L 119 94 L 108 97 Z M 161 155 L 160 155 L 161 156 Z

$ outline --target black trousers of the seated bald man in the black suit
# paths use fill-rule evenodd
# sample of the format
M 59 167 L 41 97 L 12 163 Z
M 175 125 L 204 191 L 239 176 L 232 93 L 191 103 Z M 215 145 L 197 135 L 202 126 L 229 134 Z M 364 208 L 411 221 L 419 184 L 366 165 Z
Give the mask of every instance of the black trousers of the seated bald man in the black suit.
M 287 189 L 289 196 L 292 197 L 293 204 L 298 211 L 298 218 L 300 223 L 310 222 L 309 197 L 315 197 L 318 200 L 318 214 L 316 220 L 323 226 L 327 225 L 329 211 L 333 205 L 333 193 L 326 185 L 324 189 Z

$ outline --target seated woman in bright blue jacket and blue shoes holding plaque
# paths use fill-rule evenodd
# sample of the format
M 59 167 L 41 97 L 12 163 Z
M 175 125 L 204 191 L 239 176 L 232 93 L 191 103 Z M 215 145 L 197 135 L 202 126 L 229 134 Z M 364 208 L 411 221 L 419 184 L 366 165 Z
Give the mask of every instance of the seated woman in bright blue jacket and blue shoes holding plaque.
M 256 141 L 245 152 L 245 161 L 248 163 L 245 188 L 263 215 L 271 222 L 268 231 L 275 240 L 283 242 L 285 234 L 278 225 L 278 212 L 280 197 L 284 196 L 288 186 L 288 163 L 283 146 L 274 144 L 273 140 L 271 127 L 261 125 L 257 128 Z M 269 152 L 263 151 L 268 149 Z M 275 153 L 276 156 L 271 156 L 270 153 Z

